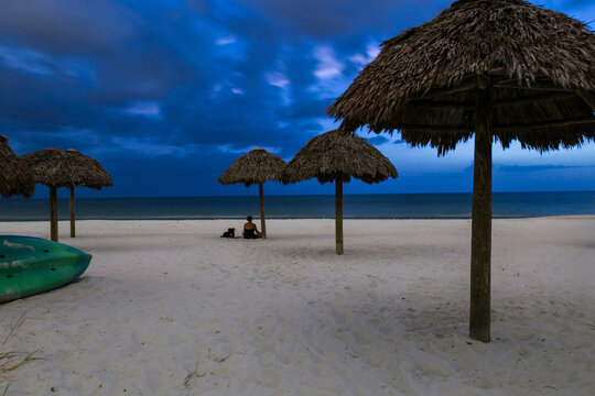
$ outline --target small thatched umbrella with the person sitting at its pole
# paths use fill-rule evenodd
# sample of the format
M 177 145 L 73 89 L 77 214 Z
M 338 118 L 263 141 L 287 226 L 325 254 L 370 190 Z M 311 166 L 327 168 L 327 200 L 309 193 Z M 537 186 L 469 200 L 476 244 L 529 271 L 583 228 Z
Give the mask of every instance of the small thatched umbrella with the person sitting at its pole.
M 260 229 L 262 238 L 267 238 L 267 224 L 264 222 L 264 191 L 262 185 L 267 180 L 281 180 L 281 172 L 285 162 L 264 148 L 257 147 L 236 160 L 231 166 L 219 176 L 219 183 L 230 185 L 244 183 L 246 187 L 258 184 L 260 197 Z

